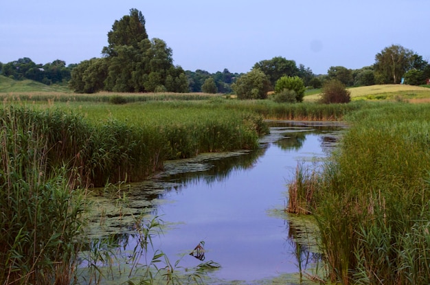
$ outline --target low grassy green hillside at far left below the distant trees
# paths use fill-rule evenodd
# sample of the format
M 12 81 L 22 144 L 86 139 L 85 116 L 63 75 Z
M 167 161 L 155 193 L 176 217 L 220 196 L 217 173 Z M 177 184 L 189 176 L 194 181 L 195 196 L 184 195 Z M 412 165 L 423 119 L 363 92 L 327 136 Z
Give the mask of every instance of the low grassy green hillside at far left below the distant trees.
M 13 80 L 0 76 L 0 93 L 9 92 L 71 92 L 66 86 L 45 85 L 34 80 Z

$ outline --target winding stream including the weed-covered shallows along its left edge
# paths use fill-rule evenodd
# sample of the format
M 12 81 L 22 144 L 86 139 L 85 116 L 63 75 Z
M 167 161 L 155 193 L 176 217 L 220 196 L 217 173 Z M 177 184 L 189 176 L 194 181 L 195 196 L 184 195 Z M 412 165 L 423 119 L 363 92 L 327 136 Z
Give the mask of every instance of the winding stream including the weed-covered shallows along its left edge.
M 319 256 L 315 236 L 300 235 L 312 223 L 284 213 L 286 184 L 297 165 L 318 168 L 345 125 L 269 122 L 269 126 L 269 135 L 260 139 L 256 150 L 166 161 L 164 170 L 151 179 L 122 185 L 128 187 L 126 196 L 119 188 L 108 192 L 110 197 L 106 192 L 95 196 L 91 236 L 113 237 L 115 254 L 131 256 L 139 244 L 136 217 L 157 216 L 164 226 L 151 240 L 153 249 L 169 260 L 180 260 L 183 269 L 195 268 L 203 260 L 220 265 L 210 271 L 212 281 L 205 283 L 251 284 L 282 275 L 288 279 L 315 266 Z M 203 256 L 190 255 L 201 242 Z M 297 243 L 306 258 L 297 260 Z

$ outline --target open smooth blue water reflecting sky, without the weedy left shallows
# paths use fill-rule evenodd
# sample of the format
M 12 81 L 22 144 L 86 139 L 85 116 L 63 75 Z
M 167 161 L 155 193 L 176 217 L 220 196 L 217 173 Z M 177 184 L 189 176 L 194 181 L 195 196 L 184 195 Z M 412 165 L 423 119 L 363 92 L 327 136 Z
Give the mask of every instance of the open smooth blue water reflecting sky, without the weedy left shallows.
M 154 247 L 170 260 L 181 258 L 180 266 L 192 267 L 202 261 L 188 253 L 204 241 L 204 261 L 222 266 L 214 272 L 222 280 L 247 282 L 297 272 L 288 223 L 273 212 L 284 209 L 286 183 L 297 165 L 317 167 L 340 129 L 275 124 L 259 150 L 168 163 L 152 181 L 157 186 L 151 186 L 163 203 L 152 199 L 157 203 L 150 209 L 173 226 L 153 240 Z M 147 194 L 148 183 L 135 185 L 138 197 L 136 192 Z M 137 203 L 134 209 L 142 207 Z M 135 243 L 129 238 L 128 247 Z

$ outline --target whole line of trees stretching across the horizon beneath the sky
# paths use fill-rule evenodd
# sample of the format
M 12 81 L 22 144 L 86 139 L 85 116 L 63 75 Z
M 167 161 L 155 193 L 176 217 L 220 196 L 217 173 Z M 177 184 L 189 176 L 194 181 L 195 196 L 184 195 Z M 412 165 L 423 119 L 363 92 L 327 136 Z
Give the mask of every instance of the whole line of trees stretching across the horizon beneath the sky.
M 316 89 L 328 80 L 339 80 L 346 87 L 352 87 L 400 82 L 420 85 L 430 78 L 429 62 L 401 45 L 385 47 L 376 54 L 372 66 L 361 69 L 332 66 L 324 75 L 316 75 L 309 67 L 297 66 L 294 60 L 281 56 L 256 62 L 248 73 L 231 73 L 228 69 L 216 73 L 201 69 L 184 71 L 173 65 L 172 49 L 166 42 L 148 38 L 145 23 L 142 12 L 136 9 L 115 21 L 108 33 L 109 45 L 102 48 L 102 58 L 83 60 L 67 67 L 63 60 L 37 65 L 30 58 L 20 58 L 6 64 L 0 62 L 0 74 L 44 84 L 68 83 L 70 89 L 78 93 L 232 93 L 235 86 L 238 88 L 237 80 L 244 76 L 242 82 L 259 85 L 258 92 L 275 90 L 276 82 L 283 76 L 297 76 L 305 87 Z M 253 88 L 247 89 L 251 92 Z M 254 89 L 254 92 L 257 91 Z M 256 94 L 249 97 L 256 97 Z

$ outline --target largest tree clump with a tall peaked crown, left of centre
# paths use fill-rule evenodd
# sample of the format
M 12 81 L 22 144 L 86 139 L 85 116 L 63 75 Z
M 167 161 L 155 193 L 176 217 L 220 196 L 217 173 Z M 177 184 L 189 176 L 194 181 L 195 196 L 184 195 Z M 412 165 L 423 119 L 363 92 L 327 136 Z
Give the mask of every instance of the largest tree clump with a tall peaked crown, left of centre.
M 104 58 L 84 60 L 73 69 L 69 86 L 79 93 L 187 92 L 188 80 L 181 67 L 175 67 L 172 49 L 159 38 L 148 39 L 142 12 L 115 21 L 108 33 Z

